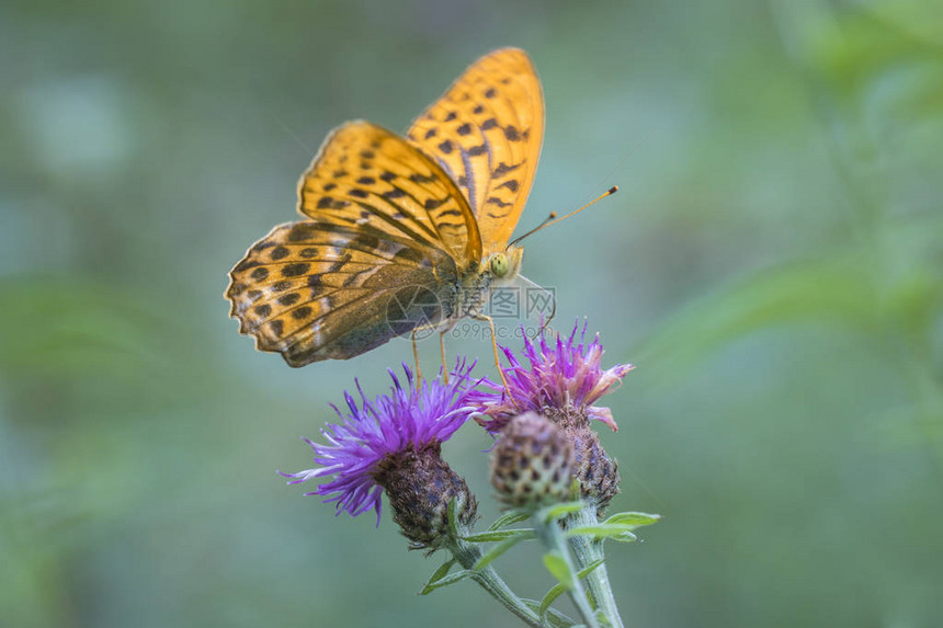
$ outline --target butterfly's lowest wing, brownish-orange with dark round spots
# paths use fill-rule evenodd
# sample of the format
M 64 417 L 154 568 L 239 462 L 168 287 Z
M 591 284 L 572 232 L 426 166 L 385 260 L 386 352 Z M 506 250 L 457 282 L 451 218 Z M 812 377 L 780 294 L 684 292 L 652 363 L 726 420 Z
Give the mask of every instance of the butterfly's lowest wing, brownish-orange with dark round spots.
M 431 251 L 431 254 L 430 254 Z M 442 318 L 455 262 L 370 226 L 275 227 L 229 273 L 239 331 L 291 366 L 365 353 Z

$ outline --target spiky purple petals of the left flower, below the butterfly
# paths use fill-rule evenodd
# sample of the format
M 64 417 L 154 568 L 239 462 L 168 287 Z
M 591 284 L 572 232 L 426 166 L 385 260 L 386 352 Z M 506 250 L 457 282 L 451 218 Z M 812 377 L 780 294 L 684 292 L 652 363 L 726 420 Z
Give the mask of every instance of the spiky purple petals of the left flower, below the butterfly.
M 325 502 L 336 502 L 337 514 L 348 511 L 356 516 L 371 509 L 379 514 L 384 487 L 377 481 L 378 466 L 385 459 L 409 450 L 438 447 L 461 427 L 474 411 L 467 398 L 475 384 L 470 379 L 475 363 L 457 363 L 448 384 L 442 381 L 442 370 L 433 380 L 425 379 L 417 389 L 412 372 L 406 364 L 406 386 L 401 386 L 393 369 L 389 395 L 368 401 L 356 382 L 360 403 L 344 391 L 350 413 L 344 415 L 331 403 L 342 423 L 328 423 L 321 430 L 327 445 L 304 441 L 315 450 L 319 465 L 297 473 L 280 473 L 296 484 L 313 478 L 333 475 L 329 482 L 306 495 L 325 495 Z

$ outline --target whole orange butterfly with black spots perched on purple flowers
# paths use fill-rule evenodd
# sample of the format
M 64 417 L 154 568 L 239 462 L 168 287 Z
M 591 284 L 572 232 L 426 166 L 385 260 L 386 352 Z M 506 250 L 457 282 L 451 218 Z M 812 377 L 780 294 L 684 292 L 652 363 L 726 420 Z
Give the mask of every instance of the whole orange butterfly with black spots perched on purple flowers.
M 473 64 L 405 137 L 364 121 L 334 129 L 298 182 L 304 219 L 229 272 L 239 331 L 297 367 L 468 316 L 491 324 L 497 361 L 481 309 L 519 274 L 509 239 L 543 136 L 541 82 L 516 48 Z

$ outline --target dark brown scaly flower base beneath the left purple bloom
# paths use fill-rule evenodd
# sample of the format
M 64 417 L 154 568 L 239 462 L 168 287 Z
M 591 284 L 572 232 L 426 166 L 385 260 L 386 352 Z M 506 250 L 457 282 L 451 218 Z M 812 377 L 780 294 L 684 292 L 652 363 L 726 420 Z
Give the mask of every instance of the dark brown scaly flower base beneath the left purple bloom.
M 448 533 L 448 502 L 457 504 L 459 526 L 471 527 L 478 503 L 465 480 L 442 459 L 434 443 L 423 449 L 387 455 L 371 472 L 384 488 L 393 509 L 393 521 L 410 541 L 411 549 L 435 548 Z

